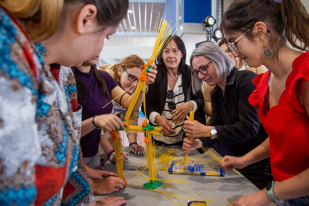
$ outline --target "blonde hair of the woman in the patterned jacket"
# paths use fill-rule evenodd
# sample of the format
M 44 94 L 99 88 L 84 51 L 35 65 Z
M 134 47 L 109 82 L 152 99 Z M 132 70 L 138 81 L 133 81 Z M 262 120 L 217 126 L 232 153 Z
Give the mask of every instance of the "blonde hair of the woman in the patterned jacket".
M 20 19 L 32 40 L 38 42 L 56 31 L 64 0 L 1 0 L 0 4 Z

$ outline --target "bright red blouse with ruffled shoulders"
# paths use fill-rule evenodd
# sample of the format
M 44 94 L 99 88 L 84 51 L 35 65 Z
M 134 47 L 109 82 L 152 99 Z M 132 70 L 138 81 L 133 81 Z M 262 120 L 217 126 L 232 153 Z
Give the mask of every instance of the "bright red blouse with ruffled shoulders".
M 278 105 L 268 112 L 269 71 L 253 80 L 256 89 L 249 97 L 250 104 L 259 107 L 257 113 L 269 135 L 270 162 L 276 181 L 288 179 L 309 168 L 309 117 L 296 94 L 297 81 L 309 80 L 309 52 L 298 56 L 292 67 Z

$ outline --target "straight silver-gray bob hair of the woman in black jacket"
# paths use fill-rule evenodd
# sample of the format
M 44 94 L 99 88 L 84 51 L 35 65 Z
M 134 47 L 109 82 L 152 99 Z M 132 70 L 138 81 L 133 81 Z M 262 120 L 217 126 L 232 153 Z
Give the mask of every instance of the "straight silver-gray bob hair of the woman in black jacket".
M 194 56 L 204 56 L 213 62 L 219 82 L 223 81 L 223 79 L 230 74 L 235 64 L 234 61 L 213 42 L 204 42 L 193 50 L 190 57 L 191 72 L 194 71 L 192 66 Z M 193 94 L 196 94 L 199 90 L 202 90 L 204 82 L 203 80 L 194 77 L 192 74 L 191 77 Z

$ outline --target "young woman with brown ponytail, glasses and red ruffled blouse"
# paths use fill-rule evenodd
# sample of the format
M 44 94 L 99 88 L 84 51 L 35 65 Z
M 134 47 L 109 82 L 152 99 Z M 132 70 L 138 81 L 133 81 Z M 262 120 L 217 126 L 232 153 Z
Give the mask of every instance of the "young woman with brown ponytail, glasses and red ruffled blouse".
M 308 205 L 308 12 L 300 0 L 235 0 L 220 27 L 235 57 L 269 69 L 253 80 L 249 97 L 269 138 L 243 157 L 223 157 L 220 165 L 242 169 L 270 156 L 278 181 L 233 205 Z

